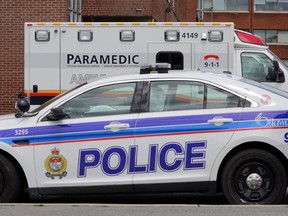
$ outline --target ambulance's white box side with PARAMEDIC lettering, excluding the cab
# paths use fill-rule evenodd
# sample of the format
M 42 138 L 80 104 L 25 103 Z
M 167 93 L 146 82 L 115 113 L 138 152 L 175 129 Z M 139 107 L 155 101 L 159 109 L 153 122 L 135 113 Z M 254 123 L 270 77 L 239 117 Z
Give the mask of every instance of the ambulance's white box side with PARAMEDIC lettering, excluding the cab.
M 37 31 L 49 32 L 37 41 Z M 132 40 L 121 40 L 123 31 Z M 178 39 L 168 41 L 167 32 Z M 212 41 L 211 31 L 222 39 Z M 81 33 L 91 40 L 81 40 Z M 219 34 L 218 34 L 219 35 Z M 232 71 L 234 26 L 207 23 L 26 23 L 25 95 L 31 105 L 91 79 L 139 72 L 141 64 L 168 62 L 176 70 Z

